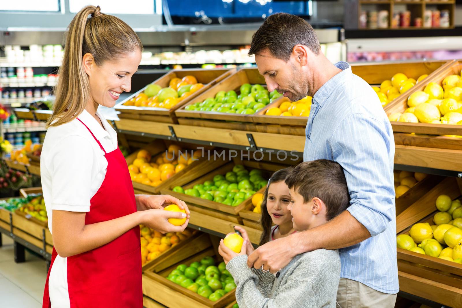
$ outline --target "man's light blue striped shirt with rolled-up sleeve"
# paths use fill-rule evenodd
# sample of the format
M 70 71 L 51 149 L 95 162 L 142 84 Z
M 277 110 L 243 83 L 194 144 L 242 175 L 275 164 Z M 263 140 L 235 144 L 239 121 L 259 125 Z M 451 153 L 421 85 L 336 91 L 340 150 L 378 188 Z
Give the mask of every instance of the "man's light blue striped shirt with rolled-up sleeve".
M 330 159 L 345 171 L 348 211 L 371 233 L 339 250 L 342 278 L 383 293 L 399 291 L 393 159 L 395 142 L 383 107 L 348 63 L 316 92 L 306 126 L 304 161 Z M 337 230 L 342 236 L 342 230 Z

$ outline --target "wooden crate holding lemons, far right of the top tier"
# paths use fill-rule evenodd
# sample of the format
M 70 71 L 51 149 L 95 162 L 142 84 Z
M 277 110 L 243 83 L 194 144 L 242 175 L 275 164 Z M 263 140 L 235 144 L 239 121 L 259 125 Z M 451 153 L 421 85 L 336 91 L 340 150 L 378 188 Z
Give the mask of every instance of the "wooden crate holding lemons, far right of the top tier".
M 436 82 L 441 85 L 444 78 L 451 74 L 460 75 L 462 70 L 462 61 L 452 61 L 445 64 L 437 71 L 430 74 L 426 79 L 419 82 L 412 89 L 396 98 L 395 101 L 385 106 L 387 115 L 396 112 L 403 113 L 407 108 L 407 98 L 417 91 L 424 91 L 426 85 L 431 82 Z M 406 122 L 391 122 L 393 132 L 395 133 L 416 133 L 425 135 L 461 135 L 461 127 L 459 125 L 449 124 L 430 124 L 430 123 L 406 123 Z M 438 142 L 436 140 L 435 142 Z M 460 148 L 459 148 L 460 149 Z

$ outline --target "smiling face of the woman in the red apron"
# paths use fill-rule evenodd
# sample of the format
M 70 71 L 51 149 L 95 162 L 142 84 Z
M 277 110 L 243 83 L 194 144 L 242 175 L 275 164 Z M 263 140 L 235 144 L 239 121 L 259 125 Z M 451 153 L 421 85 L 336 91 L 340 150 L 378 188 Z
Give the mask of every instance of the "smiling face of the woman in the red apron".
M 90 96 L 93 102 L 114 107 L 119 95 L 129 92 L 132 87 L 132 76 L 138 70 L 141 61 L 140 50 L 125 54 L 114 60 L 108 60 L 98 66 L 94 60 L 85 61 L 84 67 L 90 83 Z

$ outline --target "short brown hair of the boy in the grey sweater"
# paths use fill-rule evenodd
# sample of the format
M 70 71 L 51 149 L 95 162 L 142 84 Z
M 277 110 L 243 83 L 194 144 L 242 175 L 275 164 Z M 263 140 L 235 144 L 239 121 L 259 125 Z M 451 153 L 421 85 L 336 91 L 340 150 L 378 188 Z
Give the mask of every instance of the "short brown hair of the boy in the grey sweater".
M 327 207 L 326 219 L 339 215 L 350 205 L 350 193 L 339 163 L 318 159 L 298 164 L 286 177 L 289 189 L 303 196 L 304 203 L 317 197 Z

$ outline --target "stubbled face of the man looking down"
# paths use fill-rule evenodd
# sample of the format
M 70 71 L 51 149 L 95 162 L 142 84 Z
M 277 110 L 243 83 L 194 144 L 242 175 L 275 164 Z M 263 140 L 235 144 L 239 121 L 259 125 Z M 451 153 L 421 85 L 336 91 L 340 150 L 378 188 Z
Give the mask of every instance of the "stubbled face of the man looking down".
M 288 97 L 292 102 L 298 101 L 310 93 L 310 72 L 302 69 L 298 55 L 292 53 L 286 62 L 274 57 L 266 49 L 255 54 L 258 71 L 263 75 L 268 91 L 277 90 Z

